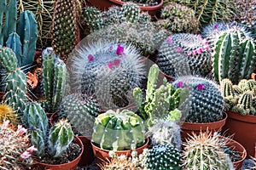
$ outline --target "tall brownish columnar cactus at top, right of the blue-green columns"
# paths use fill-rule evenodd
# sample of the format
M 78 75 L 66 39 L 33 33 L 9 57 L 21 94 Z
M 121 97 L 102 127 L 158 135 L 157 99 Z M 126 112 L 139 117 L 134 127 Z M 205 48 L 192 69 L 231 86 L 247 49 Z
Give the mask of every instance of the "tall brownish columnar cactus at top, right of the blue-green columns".
M 55 1 L 51 28 L 52 47 L 55 54 L 66 63 L 68 55 L 80 41 L 76 0 Z

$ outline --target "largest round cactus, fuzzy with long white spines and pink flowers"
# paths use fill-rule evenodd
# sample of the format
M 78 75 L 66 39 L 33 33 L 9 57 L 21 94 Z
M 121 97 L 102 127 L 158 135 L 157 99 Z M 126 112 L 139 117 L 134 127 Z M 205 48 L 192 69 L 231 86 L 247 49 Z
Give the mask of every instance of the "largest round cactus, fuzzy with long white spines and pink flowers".
M 129 104 L 129 93 L 140 85 L 143 63 L 131 45 L 95 42 L 81 47 L 68 62 L 71 90 L 96 94 L 105 110 Z

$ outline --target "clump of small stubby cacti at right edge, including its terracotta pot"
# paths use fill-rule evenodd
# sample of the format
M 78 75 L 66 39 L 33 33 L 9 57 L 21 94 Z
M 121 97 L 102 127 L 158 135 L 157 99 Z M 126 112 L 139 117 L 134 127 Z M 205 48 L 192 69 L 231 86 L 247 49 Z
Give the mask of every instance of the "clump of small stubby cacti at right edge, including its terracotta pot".
M 234 139 L 246 148 L 247 156 L 253 156 L 256 141 L 256 81 L 242 79 L 238 85 L 233 85 L 229 79 L 224 79 L 221 90 L 228 113 L 223 130 L 227 135 L 234 135 Z

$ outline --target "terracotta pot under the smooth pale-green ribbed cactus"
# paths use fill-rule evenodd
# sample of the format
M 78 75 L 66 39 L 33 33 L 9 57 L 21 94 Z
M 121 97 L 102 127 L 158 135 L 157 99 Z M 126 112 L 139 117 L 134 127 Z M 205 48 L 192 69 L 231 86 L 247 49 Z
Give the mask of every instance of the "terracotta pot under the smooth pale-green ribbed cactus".
M 110 150 L 103 150 L 103 149 L 97 147 L 92 142 L 90 142 L 90 143 L 92 145 L 93 154 L 96 157 L 96 165 L 97 165 L 98 169 L 100 169 L 100 166 L 102 165 L 102 163 L 108 162 L 111 160 L 111 158 L 108 155 Z M 145 144 L 143 144 L 143 146 L 136 149 L 137 155 L 142 154 L 143 150 L 145 148 L 148 148 L 148 138 L 146 139 L 146 142 L 145 142 Z M 121 155 L 131 156 L 131 151 L 132 150 L 119 150 L 119 151 L 115 151 L 115 154 L 117 156 L 121 156 Z

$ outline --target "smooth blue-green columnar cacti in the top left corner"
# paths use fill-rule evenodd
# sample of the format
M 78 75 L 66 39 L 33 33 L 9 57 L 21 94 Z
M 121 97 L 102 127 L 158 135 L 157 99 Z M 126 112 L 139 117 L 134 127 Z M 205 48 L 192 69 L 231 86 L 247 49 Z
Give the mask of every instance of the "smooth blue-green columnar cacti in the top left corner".
M 0 45 L 12 48 L 18 59 L 19 66 L 31 66 L 36 52 L 38 25 L 31 11 L 20 13 L 17 21 L 17 0 L 0 4 Z M 3 15 L 6 18 L 3 20 Z

